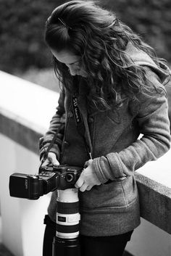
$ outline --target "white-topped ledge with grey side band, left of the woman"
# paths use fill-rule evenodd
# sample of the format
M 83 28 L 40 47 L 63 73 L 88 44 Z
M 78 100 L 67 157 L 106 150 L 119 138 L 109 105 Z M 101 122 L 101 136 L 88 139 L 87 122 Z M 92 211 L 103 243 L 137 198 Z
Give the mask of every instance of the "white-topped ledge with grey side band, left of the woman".
M 0 132 L 38 153 L 59 94 L 0 70 Z

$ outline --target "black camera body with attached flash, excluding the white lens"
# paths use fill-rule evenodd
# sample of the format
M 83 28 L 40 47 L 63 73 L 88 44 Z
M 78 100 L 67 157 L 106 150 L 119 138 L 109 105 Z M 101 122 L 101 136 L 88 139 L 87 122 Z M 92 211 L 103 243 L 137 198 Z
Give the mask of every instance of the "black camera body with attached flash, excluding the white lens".
M 9 194 L 34 200 L 56 189 L 72 189 L 82 170 L 77 166 L 59 165 L 43 166 L 38 175 L 13 173 L 9 177 Z

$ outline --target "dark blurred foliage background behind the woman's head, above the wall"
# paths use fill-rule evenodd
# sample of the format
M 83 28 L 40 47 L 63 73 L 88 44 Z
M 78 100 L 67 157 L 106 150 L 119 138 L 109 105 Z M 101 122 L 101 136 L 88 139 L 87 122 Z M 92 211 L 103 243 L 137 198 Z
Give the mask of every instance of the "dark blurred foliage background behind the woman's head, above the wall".
M 64 0 L 0 0 L 0 70 L 58 91 L 43 33 Z M 100 0 L 171 63 L 170 0 Z

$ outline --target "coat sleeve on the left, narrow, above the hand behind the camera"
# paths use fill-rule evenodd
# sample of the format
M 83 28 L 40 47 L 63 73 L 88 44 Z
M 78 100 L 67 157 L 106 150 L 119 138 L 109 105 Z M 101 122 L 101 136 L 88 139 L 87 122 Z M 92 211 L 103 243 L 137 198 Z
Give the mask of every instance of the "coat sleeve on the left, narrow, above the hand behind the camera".
M 51 146 L 50 152 L 54 152 L 59 159 L 60 149 L 62 146 L 62 139 L 64 136 L 64 123 L 65 123 L 65 110 L 64 110 L 64 90 L 61 91 L 59 95 L 58 107 L 56 114 L 51 118 L 49 130 L 46 134 L 39 140 L 40 149 L 40 159 L 42 159 L 43 154 L 45 154 L 51 140 L 53 139 L 55 133 L 59 128 L 59 133 L 57 134 L 57 139 Z

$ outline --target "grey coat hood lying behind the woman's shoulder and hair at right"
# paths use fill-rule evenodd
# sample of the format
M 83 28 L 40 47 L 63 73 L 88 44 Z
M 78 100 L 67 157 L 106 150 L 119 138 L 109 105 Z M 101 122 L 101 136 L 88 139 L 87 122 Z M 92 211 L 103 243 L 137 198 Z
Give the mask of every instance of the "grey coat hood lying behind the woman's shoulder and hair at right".
M 151 70 L 159 76 L 163 86 L 171 85 L 171 71 L 163 62 L 159 62 L 159 66 L 149 57 L 146 52 L 135 48 L 132 43 L 128 43 L 125 52 L 129 55 L 135 65 L 150 67 Z M 169 83 L 169 84 L 168 84 Z

